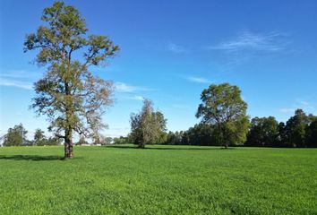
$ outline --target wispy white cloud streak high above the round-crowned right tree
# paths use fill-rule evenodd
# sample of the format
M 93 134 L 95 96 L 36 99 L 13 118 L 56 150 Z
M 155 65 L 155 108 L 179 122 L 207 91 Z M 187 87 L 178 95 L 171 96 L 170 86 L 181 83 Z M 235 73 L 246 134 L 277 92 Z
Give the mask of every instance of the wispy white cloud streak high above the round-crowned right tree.
M 267 51 L 278 52 L 285 49 L 287 41 L 285 35 L 278 32 L 253 33 L 251 31 L 240 32 L 236 39 L 222 42 L 209 49 L 224 50 L 229 52 L 237 51 Z

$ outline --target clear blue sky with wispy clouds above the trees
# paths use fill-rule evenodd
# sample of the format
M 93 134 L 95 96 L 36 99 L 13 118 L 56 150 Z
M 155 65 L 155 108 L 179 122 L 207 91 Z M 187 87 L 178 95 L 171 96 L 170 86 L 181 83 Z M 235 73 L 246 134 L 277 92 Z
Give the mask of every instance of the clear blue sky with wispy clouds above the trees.
M 317 1 L 65 1 L 78 8 L 92 34 L 121 47 L 94 73 L 116 83 L 116 103 L 104 116 L 117 136 L 129 116 L 152 99 L 167 128 L 184 130 L 195 118 L 201 90 L 230 82 L 243 91 L 250 116 L 286 121 L 297 107 L 317 115 Z M 53 1 L 0 2 L 0 134 L 22 123 L 30 135 L 47 128 L 29 109 L 32 82 L 45 72 L 23 53 L 27 33 Z

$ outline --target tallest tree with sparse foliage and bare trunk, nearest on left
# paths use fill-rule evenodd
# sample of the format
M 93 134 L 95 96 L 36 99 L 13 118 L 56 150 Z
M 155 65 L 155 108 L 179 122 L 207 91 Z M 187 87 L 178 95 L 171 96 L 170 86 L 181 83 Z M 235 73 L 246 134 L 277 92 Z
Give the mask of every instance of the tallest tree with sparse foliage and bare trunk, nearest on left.
M 105 126 L 101 115 L 112 103 L 112 82 L 89 68 L 105 63 L 119 47 L 106 36 L 86 36 L 81 14 L 63 2 L 45 8 L 41 20 L 45 25 L 24 42 L 24 51 L 39 49 L 36 61 L 47 65 L 47 73 L 35 83 L 32 107 L 48 116 L 50 131 L 64 139 L 64 157 L 73 158 L 73 132 L 98 132 Z

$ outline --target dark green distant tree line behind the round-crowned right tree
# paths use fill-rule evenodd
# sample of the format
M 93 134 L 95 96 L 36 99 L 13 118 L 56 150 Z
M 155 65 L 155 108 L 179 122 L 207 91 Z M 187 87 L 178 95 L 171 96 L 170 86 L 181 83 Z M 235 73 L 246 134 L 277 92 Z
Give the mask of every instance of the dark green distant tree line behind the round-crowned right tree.
M 198 124 L 187 131 L 167 133 L 167 142 L 171 145 L 222 145 L 215 125 Z M 231 146 L 255 147 L 317 147 L 317 116 L 306 115 L 297 109 L 287 123 L 278 123 L 274 116 L 254 117 L 246 134 L 246 141 L 230 143 Z

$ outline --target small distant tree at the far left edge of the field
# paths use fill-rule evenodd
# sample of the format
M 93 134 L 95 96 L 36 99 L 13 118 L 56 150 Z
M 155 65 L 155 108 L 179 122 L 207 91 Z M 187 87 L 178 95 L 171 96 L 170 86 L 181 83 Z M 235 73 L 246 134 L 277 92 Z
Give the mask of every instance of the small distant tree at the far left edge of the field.
M 28 145 L 30 142 L 26 139 L 27 130 L 22 124 L 14 125 L 13 128 L 9 128 L 8 132 L 2 137 L 4 146 L 22 146 Z

